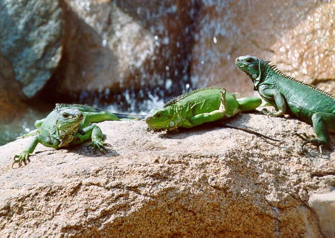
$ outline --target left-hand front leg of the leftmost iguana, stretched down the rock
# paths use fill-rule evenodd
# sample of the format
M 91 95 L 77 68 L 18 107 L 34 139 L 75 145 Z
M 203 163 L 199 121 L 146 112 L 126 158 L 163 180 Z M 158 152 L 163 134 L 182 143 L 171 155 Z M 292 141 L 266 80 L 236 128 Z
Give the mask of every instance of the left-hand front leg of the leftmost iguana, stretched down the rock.
M 14 163 L 12 164 L 12 168 L 13 168 L 13 165 L 15 163 L 19 163 L 19 167 L 22 166 L 22 162 L 26 164 L 26 161 L 28 160 L 29 156 L 31 156 L 32 153 L 34 152 L 34 150 L 35 150 L 35 148 L 36 148 L 36 146 L 37 146 L 38 143 L 41 143 L 44 146 L 52 147 L 52 148 L 56 148 L 56 149 L 58 148 L 58 145 L 59 145 L 59 141 L 56 140 L 53 137 L 43 136 L 43 135 L 37 135 L 28 144 L 28 146 L 26 147 L 26 149 L 21 152 L 21 154 L 14 156 Z M 18 158 L 18 159 L 15 159 L 15 158 Z

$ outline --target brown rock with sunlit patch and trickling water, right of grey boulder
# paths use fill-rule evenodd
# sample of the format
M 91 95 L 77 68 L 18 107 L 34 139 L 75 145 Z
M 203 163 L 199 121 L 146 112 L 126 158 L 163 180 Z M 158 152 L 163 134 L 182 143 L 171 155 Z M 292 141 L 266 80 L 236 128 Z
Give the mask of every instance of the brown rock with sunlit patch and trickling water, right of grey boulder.
M 150 85 L 183 92 L 196 1 L 64 2 L 64 54 L 54 78 L 60 94 L 143 89 L 141 97 Z

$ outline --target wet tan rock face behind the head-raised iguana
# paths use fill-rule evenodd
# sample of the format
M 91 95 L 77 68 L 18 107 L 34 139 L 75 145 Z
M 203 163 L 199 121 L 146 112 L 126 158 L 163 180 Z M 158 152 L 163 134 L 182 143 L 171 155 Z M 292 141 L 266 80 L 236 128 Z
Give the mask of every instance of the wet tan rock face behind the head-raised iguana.
M 192 51 L 193 84 L 252 95 L 251 80 L 234 61 L 254 55 L 335 95 L 334 9 L 334 1 L 203 0 Z

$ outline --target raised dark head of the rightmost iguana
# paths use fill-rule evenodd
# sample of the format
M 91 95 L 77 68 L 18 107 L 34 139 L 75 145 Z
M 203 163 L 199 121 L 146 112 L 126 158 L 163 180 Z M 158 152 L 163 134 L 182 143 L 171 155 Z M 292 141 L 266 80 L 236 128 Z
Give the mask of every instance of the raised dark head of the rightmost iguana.
M 236 58 L 236 66 L 247 73 L 253 82 L 253 90 L 257 90 L 258 84 L 262 79 L 262 67 L 267 66 L 269 61 L 263 61 L 255 56 L 246 55 Z

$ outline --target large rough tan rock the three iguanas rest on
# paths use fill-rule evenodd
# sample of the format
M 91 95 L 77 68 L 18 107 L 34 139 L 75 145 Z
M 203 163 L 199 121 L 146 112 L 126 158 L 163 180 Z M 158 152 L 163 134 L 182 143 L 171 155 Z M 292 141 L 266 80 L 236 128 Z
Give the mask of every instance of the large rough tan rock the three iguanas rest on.
M 38 145 L 20 169 L 10 168 L 12 158 L 31 138 L 1 146 L 0 236 L 325 235 L 308 201 L 334 189 L 335 152 L 320 156 L 310 145 L 301 156 L 292 133 L 313 129 L 295 119 L 241 114 L 231 123 L 283 141 L 227 128 L 170 135 L 147 132 L 143 121 L 102 122 L 112 153 Z

